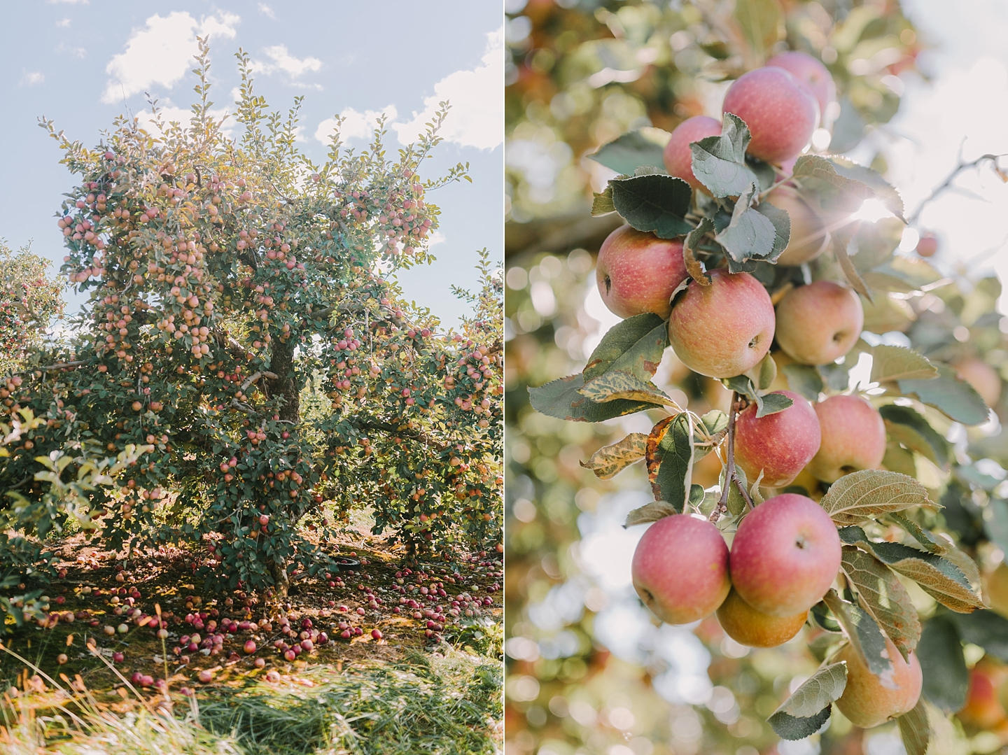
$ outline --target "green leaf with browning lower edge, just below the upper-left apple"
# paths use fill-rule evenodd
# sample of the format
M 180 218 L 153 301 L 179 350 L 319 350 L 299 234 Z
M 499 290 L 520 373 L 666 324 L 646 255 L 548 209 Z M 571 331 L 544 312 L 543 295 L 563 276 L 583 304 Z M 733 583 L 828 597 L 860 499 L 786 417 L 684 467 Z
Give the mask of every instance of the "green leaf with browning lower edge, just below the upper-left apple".
M 589 382 L 610 370 L 629 372 L 647 382 L 668 346 L 668 327 L 657 314 L 637 314 L 609 329 L 584 370 Z

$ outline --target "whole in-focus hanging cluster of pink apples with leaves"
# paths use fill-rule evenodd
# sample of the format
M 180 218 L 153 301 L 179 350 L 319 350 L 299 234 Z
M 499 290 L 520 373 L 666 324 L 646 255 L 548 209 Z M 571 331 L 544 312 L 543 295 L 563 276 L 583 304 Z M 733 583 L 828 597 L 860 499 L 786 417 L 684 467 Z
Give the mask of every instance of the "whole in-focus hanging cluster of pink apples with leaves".
M 936 278 L 894 256 L 903 205 L 879 173 L 808 151 L 835 98 L 822 62 L 787 52 L 731 85 L 720 123 L 683 121 L 660 162 L 636 134 L 592 155 L 624 170 L 628 153 L 639 156 L 593 207 L 626 221 L 596 270 L 603 301 L 624 320 L 581 374 L 530 397 L 574 421 L 639 411 L 657 420 L 585 466 L 608 478 L 646 465 L 655 501 L 627 526 L 651 523 L 632 578 L 658 619 L 716 614 L 754 647 L 806 624 L 831 638 L 820 670 L 770 717 L 779 736 L 818 731 L 836 703 L 858 726 L 899 721 L 908 751 L 922 753 L 921 622 L 897 575 L 955 615 L 986 604 L 976 563 L 928 528 L 940 508 L 933 493 L 894 460 L 917 448 L 911 425 L 937 434 L 930 413 L 976 425 L 989 408 L 966 362 L 862 338 L 890 291 L 922 296 Z M 866 201 L 892 217 L 862 223 Z M 731 390 L 727 413 L 699 415 L 654 384 L 669 347 Z M 870 383 L 855 386 L 863 355 Z M 692 470 L 712 453 L 722 483 L 705 490 Z

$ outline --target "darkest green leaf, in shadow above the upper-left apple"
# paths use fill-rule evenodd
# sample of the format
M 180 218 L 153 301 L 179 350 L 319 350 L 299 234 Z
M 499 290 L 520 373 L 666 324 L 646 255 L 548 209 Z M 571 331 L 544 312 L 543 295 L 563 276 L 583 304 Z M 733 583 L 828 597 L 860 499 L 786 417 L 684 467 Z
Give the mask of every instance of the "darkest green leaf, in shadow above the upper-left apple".
M 638 231 L 653 231 L 670 239 L 692 230 L 686 221 L 692 188 L 682 178 L 671 175 L 637 175 L 613 178 L 613 207 Z

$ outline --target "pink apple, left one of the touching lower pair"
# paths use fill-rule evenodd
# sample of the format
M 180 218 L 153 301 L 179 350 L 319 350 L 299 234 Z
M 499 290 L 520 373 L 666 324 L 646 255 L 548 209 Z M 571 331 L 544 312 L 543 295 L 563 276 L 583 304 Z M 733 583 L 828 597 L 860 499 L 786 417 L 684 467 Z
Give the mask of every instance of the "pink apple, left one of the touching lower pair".
M 633 586 L 651 613 L 688 624 L 718 610 L 731 582 L 728 545 L 707 519 L 673 514 L 641 536 L 631 564 Z

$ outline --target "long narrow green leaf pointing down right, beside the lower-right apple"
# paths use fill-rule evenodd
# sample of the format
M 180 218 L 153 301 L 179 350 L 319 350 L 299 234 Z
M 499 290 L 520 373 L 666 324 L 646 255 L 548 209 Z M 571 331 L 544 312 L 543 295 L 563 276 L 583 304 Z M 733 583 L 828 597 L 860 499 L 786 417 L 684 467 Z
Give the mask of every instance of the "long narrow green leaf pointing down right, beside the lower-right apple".
M 843 542 L 867 550 L 890 569 L 910 578 L 946 608 L 959 613 L 984 608 L 969 578 L 948 558 L 901 542 L 872 542 L 861 527 L 841 527 L 838 532 Z

